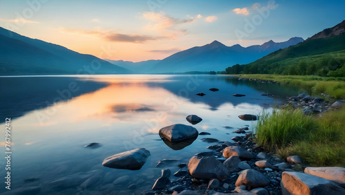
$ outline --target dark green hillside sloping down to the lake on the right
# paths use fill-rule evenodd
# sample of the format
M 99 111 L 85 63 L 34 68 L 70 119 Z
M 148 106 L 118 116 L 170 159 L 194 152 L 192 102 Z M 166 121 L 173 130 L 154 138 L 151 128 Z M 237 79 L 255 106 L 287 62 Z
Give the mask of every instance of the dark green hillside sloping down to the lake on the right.
M 319 75 L 344 77 L 345 35 L 310 39 L 255 62 L 226 68 L 228 74 Z

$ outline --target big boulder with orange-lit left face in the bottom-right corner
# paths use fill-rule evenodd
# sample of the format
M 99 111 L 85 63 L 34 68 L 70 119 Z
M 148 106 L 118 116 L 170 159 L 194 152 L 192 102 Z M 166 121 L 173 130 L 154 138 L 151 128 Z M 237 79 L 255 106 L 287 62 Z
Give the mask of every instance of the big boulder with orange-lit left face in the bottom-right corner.
M 345 189 L 339 187 L 331 180 L 300 172 L 287 172 L 282 174 L 282 194 L 345 194 Z

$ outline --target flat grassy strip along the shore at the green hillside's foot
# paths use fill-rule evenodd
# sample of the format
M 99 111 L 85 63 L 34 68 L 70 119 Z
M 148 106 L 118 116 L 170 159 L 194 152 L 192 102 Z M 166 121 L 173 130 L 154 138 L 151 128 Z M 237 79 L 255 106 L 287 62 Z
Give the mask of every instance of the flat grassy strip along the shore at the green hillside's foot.
M 239 77 L 271 80 L 282 84 L 293 84 L 306 91 L 311 91 L 311 95 L 321 96 L 320 93 L 332 95 L 336 99 L 345 100 L 345 77 L 318 77 L 318 76 L 298 76 L 298 75 L 240 75 Z M 291 94 L 298 95 L 298 94 Z

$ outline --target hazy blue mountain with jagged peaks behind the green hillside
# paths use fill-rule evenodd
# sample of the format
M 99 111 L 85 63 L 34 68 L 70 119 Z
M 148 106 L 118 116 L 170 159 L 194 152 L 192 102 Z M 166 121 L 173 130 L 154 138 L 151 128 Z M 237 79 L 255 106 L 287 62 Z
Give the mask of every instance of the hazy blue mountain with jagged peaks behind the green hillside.
M 246 48 L 236 44 L 225 46 L 219 41 L 213 41 L 204 46 L 183 50 L 158 62 L 151 73 L 182 73 L 187 71 L 223 71 L 235 64 L 248 64 L 272 53 L 280 48 L 293 46 L 304 41 L 301 37 L 293 37 L 288 41 L 276 43 L 272 40 Z

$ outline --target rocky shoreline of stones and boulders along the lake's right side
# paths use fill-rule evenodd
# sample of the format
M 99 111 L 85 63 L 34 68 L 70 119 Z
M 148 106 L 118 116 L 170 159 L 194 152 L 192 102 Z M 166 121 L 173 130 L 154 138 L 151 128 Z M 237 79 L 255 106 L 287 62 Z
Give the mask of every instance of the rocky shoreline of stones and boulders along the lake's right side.
M 322 96 L 302 93 L 289 97 L 282 106 L 293 106 L 305 114 L 313 114 L 339 109 L 345 102 L 324 101 L 333 97 Z M 179 164 L 179 171 L 173 176 L 170 176 L 170 169 L 161 169 L 161 177 L 152 185 L 152 191 L 143 194 L 345 194 L 344 167 L 308 167 L 299 156 L 286 159 L 273 156 L 258 147 L 252 134 L 244 130 L 248 128 L 234 132 L 246 133 L 232 138 L 235 143 L 217 142 L 207 147 L 212 151 L 195 154 L 189 162 Z M 201 132 L 199 135 L 208 134 Z

